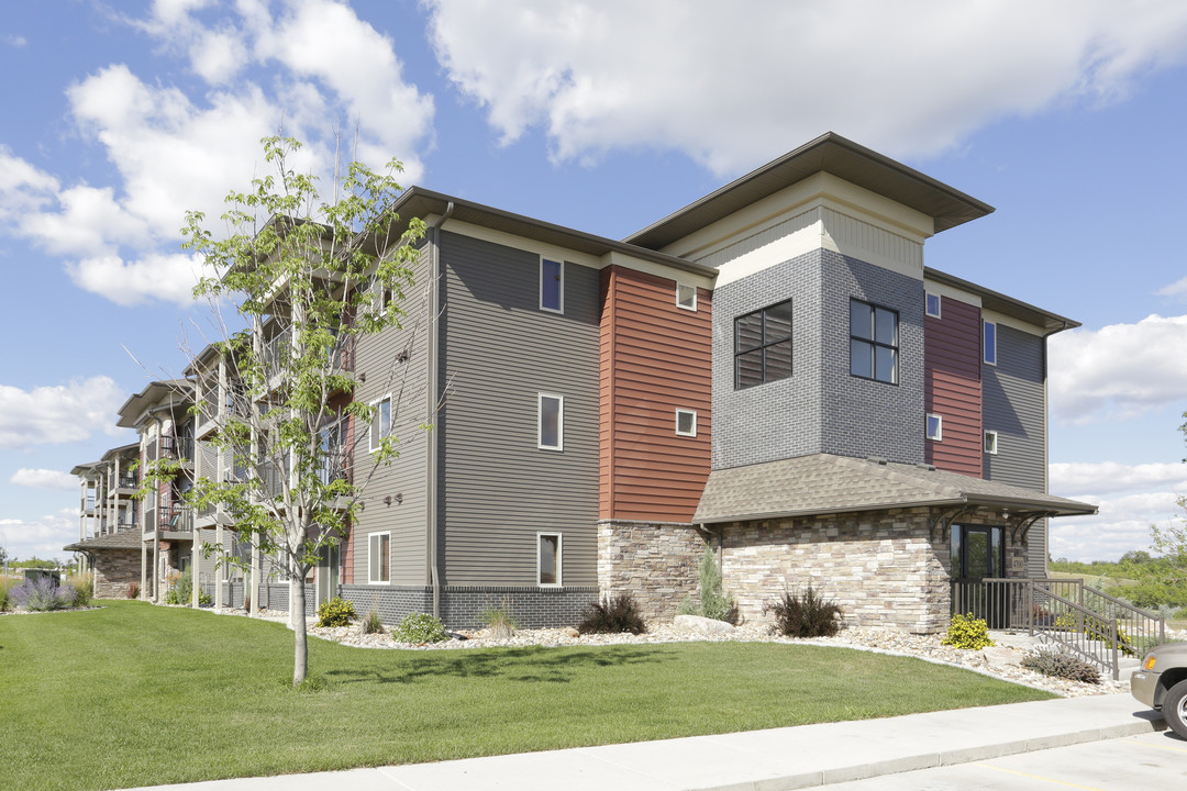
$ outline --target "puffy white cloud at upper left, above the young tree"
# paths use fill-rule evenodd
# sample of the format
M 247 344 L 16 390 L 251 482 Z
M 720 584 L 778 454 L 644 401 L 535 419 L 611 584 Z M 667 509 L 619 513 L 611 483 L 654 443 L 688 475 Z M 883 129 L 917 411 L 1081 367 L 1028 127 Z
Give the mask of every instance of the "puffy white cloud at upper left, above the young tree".
M 197 267 L 178 250 L 185 212 L 204 212 L 217 231 L 228 190 L 267 171 L 259 140 L 281 122 L 306 143 L 290 165 L 323 185 L 331 184 L 335 127 L 356 122 L 355 157 L 380 167 L 399 155 L 419 177 L 432 98 L 404 81 L 393 42 L 349 6 L 300 0 L 274 13 L 255 0 L 230 8 L 158 0 L 147 18 L 125 21 L 188 58 L 207 93 L 146 82 L 119 63 L 71 85 L 70 115 L 114 166 L 113 184 L 63 185 L 0 147 L 0 229 L 66 256 L 82 288 L 119 305 L 190 305 Z M 242 78 L 253 64 L 267 83 Z

